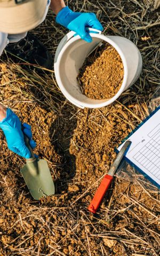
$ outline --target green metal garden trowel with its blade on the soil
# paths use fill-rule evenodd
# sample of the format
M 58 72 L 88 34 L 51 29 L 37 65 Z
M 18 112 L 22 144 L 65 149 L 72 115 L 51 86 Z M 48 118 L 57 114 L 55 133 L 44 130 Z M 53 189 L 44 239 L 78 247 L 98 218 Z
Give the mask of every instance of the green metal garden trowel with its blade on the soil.
M 31 158 L 26 159 L 26 164 L 22 167 L 21 174 L 25 179 L 30 194 L 36 200 L 42 196 L 54 195 L 54 183 L 46 160 L 35 157 L 28 137 L 26 135 L 24 137 L 26 146 L 30 150 Z

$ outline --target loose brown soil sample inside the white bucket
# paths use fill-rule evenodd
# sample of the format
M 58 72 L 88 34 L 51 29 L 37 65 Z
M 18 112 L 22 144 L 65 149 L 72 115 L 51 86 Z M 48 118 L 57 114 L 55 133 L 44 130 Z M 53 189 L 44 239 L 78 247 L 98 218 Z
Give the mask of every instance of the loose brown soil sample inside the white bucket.
M 87 97 L 102 100 L 114 97 L 122 85 L 123 76 L 119 53 L 105 43 L 86 58 L 77 79 Z

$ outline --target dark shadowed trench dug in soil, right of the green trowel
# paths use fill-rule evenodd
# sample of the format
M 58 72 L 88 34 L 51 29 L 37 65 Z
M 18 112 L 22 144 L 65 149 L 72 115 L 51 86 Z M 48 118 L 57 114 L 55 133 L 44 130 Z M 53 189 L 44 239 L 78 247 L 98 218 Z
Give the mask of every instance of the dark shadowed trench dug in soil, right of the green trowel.
M 76 173 L 76 157 L 69 153 L 71 139 L 77 125 L 76 117 L 73 117 L 76 111 L 74 113 L 64 109 L 64 113 L 64 115 L 55 119 L 50 128 L 52 145 L 60 156 L 60 164 L 57 170 L 59 177 L 56 182 L 57 194 L 61 194 L 63 191 L 67 192 L 67 183 L 74 179 Z

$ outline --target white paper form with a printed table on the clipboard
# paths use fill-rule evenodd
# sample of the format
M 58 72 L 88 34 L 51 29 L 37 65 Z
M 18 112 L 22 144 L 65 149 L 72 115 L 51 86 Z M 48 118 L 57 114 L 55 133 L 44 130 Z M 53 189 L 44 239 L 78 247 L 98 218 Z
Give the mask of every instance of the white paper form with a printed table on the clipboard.
M 160 108 L 127 140 L 132 143 L 126 158 L 160 185 Z

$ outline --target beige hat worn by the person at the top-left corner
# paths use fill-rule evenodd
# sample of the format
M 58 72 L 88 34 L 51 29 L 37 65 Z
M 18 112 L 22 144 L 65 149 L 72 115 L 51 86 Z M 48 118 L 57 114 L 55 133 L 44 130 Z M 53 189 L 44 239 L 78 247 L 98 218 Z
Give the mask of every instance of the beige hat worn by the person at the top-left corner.
M 0 31 L 19 34 L 41 23 L 47 0 L 0 0 Z

